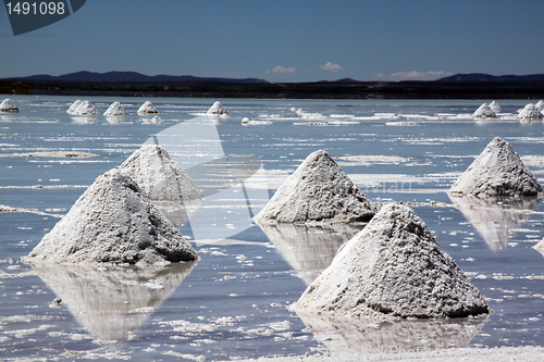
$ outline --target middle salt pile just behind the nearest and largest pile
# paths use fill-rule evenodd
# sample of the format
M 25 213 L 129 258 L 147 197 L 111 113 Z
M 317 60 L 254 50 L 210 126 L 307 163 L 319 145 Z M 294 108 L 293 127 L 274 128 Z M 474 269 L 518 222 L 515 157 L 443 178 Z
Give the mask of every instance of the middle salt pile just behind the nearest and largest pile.
M 302 162 L 254 217 L 256 223 L 368 223 L 378 212 L 325 151 Z

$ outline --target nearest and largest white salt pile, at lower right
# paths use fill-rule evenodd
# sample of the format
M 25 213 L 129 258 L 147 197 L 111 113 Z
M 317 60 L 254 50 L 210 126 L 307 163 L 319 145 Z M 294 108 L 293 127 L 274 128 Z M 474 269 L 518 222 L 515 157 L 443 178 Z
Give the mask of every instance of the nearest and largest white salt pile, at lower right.
M 408 207 L 390 203 L 293 305 L 297 312 L 400 317 L 490 313 L 480 291 Z

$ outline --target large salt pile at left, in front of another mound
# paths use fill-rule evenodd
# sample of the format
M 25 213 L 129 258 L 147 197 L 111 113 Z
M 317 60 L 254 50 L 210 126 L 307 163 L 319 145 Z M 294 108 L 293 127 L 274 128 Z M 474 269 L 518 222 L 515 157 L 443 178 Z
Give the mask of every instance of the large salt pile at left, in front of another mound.
M 24 260 L 40 263 L 164 263 L 197 252 L 119 170 L 99 176 Z

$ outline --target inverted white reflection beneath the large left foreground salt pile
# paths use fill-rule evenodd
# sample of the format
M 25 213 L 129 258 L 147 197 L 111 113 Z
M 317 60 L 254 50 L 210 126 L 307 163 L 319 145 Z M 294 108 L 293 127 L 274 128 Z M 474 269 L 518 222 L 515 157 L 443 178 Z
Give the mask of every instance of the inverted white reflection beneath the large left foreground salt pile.
M 146 270 L 55 265 L 35 271 L 95 339 L 126 341 L 195 265 L 185 262 Z

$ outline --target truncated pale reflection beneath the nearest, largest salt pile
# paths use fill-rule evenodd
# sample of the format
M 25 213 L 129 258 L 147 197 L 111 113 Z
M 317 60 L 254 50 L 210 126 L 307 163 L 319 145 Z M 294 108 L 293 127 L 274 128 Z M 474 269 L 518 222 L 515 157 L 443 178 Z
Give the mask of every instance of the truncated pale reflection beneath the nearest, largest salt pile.
M 331 351 L 368 354 L 467 347 L 487 321 L 487 316 L 397 322 L 298 316 Z

